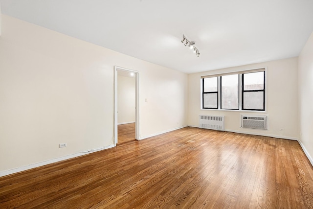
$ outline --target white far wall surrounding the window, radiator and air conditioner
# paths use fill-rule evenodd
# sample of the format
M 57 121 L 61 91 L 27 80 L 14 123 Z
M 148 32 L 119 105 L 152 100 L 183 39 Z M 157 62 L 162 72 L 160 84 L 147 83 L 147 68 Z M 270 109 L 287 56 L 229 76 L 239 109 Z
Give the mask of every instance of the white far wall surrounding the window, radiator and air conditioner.
M 298 139 L 297 65 L 297 58 L 290 58 L 189 74 L 188 125 L 199 127 L 199 115 L 225 116 L 226 131 L 284 139 Z M 263 67 L 267 68 L 266 113 L 201 110 L 201 75 L 252 70 Z M 268 130 L 240 128 L 242 114 L 268 116 Z M 284 129 L 284 131 L 280 131 L 280 129 Z

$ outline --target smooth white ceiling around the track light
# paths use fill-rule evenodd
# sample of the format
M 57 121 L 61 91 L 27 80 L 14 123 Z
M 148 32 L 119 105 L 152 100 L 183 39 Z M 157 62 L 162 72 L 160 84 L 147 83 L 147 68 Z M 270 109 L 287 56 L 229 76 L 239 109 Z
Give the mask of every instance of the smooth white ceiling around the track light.
M 186 73 L 298 56 L 313 0 L 0 0 L 2 14 Z M 182 34 L 200 51 L 180 42 Z

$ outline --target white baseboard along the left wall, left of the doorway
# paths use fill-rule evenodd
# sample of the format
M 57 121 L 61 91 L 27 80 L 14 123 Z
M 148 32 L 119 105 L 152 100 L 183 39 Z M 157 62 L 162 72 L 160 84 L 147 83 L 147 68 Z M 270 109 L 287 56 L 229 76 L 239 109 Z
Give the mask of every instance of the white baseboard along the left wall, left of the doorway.
M 43 161 L 43 162 L 39 162 L 39 163 L 33 163 L 33 164 L 29 164 L 29 165 L 18 167 L 18 168 L 13 168 L 13 169 L 10 169 L 10 170 L 0 171 L 0 177 L 6 176 L 6 175 L 10 175 L 10 174 L 13 174 L 13 173 L 18 173 L 18 172 L 25 171 L 25 170 L 29 170 L 29 169 L 32 169 L 32 168 L 35 168 L 35 167 L 40 167 L 40 166 L 47 165 L 47 164 L 50 164 L 50 163 L 56 163 L 56 162 L 59 162 L 59 161 L 64 161 L 64 160 L 68 160 L 68 159 L 71 159 L 71 158 L 76 158 L 76 157 L 79 157 L 79 156 L 82 156 L 82 155 L 87 155 L 87 154 L 90 154 L 90 153 L 93 153 L 93 152 L 101 151 L 101 150 L 104 150 L 104 149 L 109 149 L 109 148 L 112 148 L 112 147 L 114 147 L 114 144 L 106 146 L 106 147 L 100 147 L 100 148 L 96 148 L 96 149 L 93 149 L 93 150 L 83 151 L 83 152 L 79 152 L 79 153 L 75 153 L 75 154 L 71 154 L 71 155 L 67 155 L 67 156 L 63 156 L 63 157 L 59 157 L 59 158 L 55 158 L 55 159 L 51 159 L 51 160 L 47 160 L 47 161 Z

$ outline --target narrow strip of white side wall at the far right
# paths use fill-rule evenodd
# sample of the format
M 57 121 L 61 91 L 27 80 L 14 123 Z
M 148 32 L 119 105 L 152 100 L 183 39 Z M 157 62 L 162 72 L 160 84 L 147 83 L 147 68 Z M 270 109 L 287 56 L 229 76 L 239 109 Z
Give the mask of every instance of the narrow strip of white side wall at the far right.
M 313 33 L 299 55 L 300 144 L 313 164 Z

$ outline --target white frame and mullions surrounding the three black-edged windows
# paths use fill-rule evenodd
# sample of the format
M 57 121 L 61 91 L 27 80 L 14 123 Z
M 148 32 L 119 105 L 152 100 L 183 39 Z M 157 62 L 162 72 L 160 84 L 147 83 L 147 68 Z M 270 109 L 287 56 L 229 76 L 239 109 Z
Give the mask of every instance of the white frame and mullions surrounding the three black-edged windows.
M 264 97 L 263 97 L 263 110 L 255 110 L 255 109 L 243 109 L 243 74 L 246 73 L 252 73 L 252 72 L 264 72 L 264 89 L 262 91 L 264 91 Z M 222 85 L 221 85 L 221 77 L 224 75 L 233 75 L 233 74 L 237 74 L 239 75 L 239 110 L 238 109 L 222 109 Z M 203 108 L 203 91 L 204 91 L 204 79 L 205 78 L 211 78 L 211 77 L 218 77 L 218 108 Z M 200 76 L 200 80 L 201 80 L 201 88 L 200 88 L 200 98 L 201 98 L 201 105 L 200 105 L 200 109 L 201 110 L 213 110 L 213 111 L 234 111 L 234 112 L 257 112 L 257 113 L 267 113 L 267 91 L 266 87 L 267 87 L 267 67 L 261 67 L 261 68 L 256 68 L 256 69 L 249 69 L 249 70 L 238 70 L 238 71 L 228 71 L 228 72 L 224 72 L 224 73 L 219 73 L 219 74 L 202 74 Z M 216 92 L 214 92 L 216 93 Z

